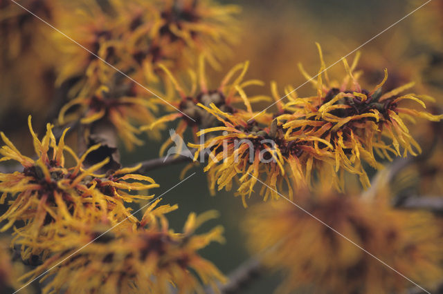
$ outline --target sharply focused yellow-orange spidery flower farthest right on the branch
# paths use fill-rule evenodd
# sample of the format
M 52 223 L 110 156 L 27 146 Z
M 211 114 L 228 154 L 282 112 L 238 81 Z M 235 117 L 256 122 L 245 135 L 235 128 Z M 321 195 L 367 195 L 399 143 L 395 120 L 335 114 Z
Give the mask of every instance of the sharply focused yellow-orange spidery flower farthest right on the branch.
M 321 73 L 325 69 L 325 62 L 319 45 L 318 50 Z M 316 81 L 312 80 L 317 95 L 307 98 L 289 95 L 290 101 L 284 105 L 284 109 L 292 113 L 280 115 L 277 119 L 287 129 L 286 139 L 312 136 L 328 141 L 334 146 L 336 171 L 344 168 L 359 175 L 363 186 L 368 187 L 370 182 L 362 161 L 373 168 L 380 168 L 381 164 L 374 157 L 374 150 L 379 157 L 389 160 L 391 155 L 406 157 L 408 153 L 417 155 L 421 152 L 404 119 L 412 122 L 416 118 L 440 121 L 443 115 L 431 115 L 407 106 L 399 107 L 400 101 L 409 99 L 426 108 L 422 100 L 433 99 L 413 93 L 401 95 L 401 92 L 413 87 L 414 83 L 382 91 L 381 87 L 388 79 L 387 70 L 383 81 L 371 91 L 361 88 L 357 81 L 361 72 L 354 72 L 358 57 L 354 59 L 352 66 L 348 66 L 345 59 L 343 61 L 347 76 L 342 84 L 329 80 L 326 72 L 321 73 Z M 310 79 L 304 70 L 302 72 Z M 323 83 L 323 79 L 326 83 Z M 386 143 L 384 138 L 389 139 L 390 143 Z

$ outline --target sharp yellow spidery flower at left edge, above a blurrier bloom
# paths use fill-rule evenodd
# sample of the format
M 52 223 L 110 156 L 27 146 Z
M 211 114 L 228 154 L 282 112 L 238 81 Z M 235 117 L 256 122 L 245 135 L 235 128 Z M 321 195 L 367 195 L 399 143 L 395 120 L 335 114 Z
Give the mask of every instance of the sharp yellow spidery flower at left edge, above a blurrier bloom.
M 136 221 L 123 202 L 150 199 L 152 196 L 131 195 L 125 190 L 155 188 L 158 185 L 153 179 L 131 174 L 138 166 L 123 168 L 107 175 L 95 175 L 94 172 L 107 164 L 109 159 L 87 169 L 82 167 L 82 162 L 99 145 L 89 148 L 78 158 L 73 150 L 64 144 L 64 136 L 68 129 L 64 130 L 57 143 L 52 126 L 48 124 L 46 135 L 40 141 L 30 124 L 30 117 L 28 124 L 33 135 L 36 160 L 21 155 L 9 139 L 0 133 L 6 143 L 6 146 L 0 149 L 0 154 L 3 155 L 0 161 L 12 159 L 19 161 L 24 167 L 21 173 L 0 173 L 0 191 L 3 193 L 1 203 L 12 197 L 8 202 L 8 210 L 0 217 L 0 221 L 8 220 L 1 231 L 6 231 L 22 220 L 25 224 L 17 228 L 16 233 L 28 232 L 33 238 L 38 238 L 42 234 L 52 236 L 57 232 L 62 220 L 75 223 L 78 219 L 93 215 L 96 221 L 109 219 L 114 223 L 127 217 L 133 223 Z M 75 159 L 74 166 L 65 166 L 64 151 Z M 51 226 L 55 231 L 48 231 L 48 224 L 55 224 Z M 35 254 L 34 249 L 27 248 L 23 252 L 24 258 Z

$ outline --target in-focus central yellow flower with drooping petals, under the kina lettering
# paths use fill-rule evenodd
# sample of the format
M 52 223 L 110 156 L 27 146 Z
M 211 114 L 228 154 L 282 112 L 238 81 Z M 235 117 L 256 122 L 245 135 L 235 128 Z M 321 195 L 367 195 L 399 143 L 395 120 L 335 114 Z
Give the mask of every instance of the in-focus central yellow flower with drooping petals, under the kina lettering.
M 324 139 L 305 136 L 287 140 L 276 120 L 262 127 L 256 121 L 248 122 L 241 116 L 223 112 L 215 104 L 210 104 L 210 108 L 198 105 L 222 123 L 197 133 L 199 136 L 215 134 L 204 144 L 188 144 L 197 148 L 195 160 L 202 157 L 203 150 L 210 149 L 204 170 L 208 172 L 211 193 L 215 192 L 215 184 L 218 190 L 230 190 L 234 181 L 239 182 L 235 195 L 242 197 L 246 207 L 246 197 L 251 196 L 260 178 L 267 185 L 260 190 L 264 200 L 278 199 L 275 190 L 283 187 L 288 188 L 292 199 L 294 190 L 306 189 L 311 183 L 314 170 L 323 181 L 334 183 L 331 181 L 335 180 L 332 146 Z M 320 147 L 320 144 L 326 146 Z

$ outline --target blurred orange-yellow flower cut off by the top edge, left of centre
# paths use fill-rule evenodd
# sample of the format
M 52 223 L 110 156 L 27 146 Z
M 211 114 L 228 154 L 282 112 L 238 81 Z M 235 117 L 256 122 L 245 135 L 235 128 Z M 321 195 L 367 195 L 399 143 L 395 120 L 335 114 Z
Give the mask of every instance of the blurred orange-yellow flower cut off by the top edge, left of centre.
M 239 7 L 212 0 L 135 1 L 128 5 L 111 1 L 129 28 L 123 34 L 134 67 L 148 80 L 155 79 L 156 63 L 178 69 L 189 68 L 198 55 L 213 66 L 231 52 L 237 41 Z

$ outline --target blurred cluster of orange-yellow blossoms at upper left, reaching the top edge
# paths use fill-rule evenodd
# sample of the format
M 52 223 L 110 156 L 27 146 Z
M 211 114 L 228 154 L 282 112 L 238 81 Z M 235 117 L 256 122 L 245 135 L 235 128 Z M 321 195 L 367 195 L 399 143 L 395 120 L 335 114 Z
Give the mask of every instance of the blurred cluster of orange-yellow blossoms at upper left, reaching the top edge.
M 105 121 L 116 128 L 132 150 L 134 144 L 143 144 L 138 126 L 156 121 L 154 114 L 161 101 L 155 97 L 156 91 L 141 85 L 159 84 L 161 68 L 168 66 L 177 72 L 183 64 L 189 67 L 198 55 L 215 65 L 217 57 L 226 51 L 226 43 L 235 36 L 230 28 L 235 27 L 232 14 L 237 7 L 216 6 L 211 1 L 116 0 L 109 1 L 110 13 L 95 1 L 89 2 L 80 6 L 80 28 L 69 24 L 70 20 L 77 23 L 77 17 L 66 19 L 66 26 L 75 28 L 71 37 L 87 50 L 66 43 L 69 40 L 61 42 L 66 50 L 73 48 L 73 58 L 63 63 L 58 79 L 75 80 L 79 75 L 87 78 L 70 89 L 76 98 L 62 108 L 59 123 L 80 120 L 93 128 Z M 166 88 L 170 88 L 169 83 L 166 79 Z M 158 130 L 148 135 L 159 139 Z

